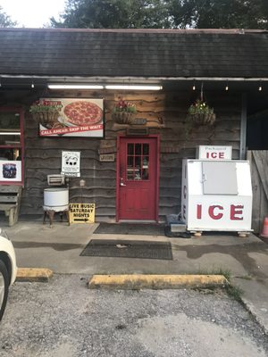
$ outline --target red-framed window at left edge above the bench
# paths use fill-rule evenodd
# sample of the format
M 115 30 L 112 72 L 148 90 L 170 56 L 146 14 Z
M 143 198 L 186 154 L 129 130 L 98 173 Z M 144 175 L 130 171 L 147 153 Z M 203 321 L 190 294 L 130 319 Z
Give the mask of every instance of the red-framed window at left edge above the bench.
M 22 112 L 0 108 L 0 183 L 22 184 Z

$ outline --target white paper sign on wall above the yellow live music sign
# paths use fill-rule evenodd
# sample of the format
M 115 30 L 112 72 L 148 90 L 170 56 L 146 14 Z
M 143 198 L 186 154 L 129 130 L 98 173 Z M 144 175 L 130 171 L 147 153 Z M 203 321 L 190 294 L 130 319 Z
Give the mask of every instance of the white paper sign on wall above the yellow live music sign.
M 80 151 L 62 152 L 62 175 L 80 178 Z

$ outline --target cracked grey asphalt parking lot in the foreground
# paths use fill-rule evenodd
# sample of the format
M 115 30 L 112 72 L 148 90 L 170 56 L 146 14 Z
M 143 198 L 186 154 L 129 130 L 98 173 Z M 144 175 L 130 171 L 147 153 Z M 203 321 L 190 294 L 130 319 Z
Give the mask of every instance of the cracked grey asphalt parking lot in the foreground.
M 2 357 L 264 357 L 268 339 L 222 290 L 89 290 L 88 275 L 15 283 Z

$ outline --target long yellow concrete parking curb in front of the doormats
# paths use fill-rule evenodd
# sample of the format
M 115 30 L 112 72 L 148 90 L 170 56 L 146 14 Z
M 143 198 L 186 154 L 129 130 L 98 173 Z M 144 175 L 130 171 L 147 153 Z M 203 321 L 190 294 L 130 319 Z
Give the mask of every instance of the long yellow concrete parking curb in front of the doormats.
M 223 275 L 94 275 L 88 281 L 89 289 L 179 289 L 228 284 Z

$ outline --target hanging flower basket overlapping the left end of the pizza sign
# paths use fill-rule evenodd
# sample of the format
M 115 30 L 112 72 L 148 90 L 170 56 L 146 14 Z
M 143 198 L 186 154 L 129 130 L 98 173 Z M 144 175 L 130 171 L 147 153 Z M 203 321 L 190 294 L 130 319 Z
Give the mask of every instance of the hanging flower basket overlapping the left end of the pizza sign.
M 49 129 L 57 122 L 62 108 L 60 101 L 40 99 L 30 105 L 29 112 L 38 123 Z

